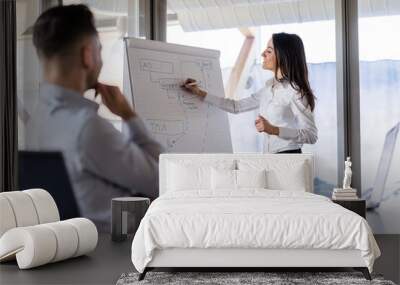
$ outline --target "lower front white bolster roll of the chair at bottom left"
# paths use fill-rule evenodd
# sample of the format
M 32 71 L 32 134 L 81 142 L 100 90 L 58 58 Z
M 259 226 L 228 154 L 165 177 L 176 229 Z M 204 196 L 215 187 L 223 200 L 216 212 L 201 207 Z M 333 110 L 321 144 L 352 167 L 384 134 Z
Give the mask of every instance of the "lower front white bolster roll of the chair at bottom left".
M 0 261 L 16 257 L 28 269 L 86 254 L 97 241 L 96 226 L 85 218 L 13 228 L 0 238 Z

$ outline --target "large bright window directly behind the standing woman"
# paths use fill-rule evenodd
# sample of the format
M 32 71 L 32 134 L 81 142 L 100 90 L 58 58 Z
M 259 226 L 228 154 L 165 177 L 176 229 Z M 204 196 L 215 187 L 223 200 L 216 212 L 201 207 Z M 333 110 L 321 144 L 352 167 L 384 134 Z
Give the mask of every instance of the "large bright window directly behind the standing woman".
M 261 68 L 261 53 L 273 33 L 296 33 L 302 38 L 311 87 L 317 97 L 315 119 L 319 130 L 317 144 L 305 145 L 303 150 L 315 155 L 315 191 L 330 196 L 337 182 L 338 156 L 334 1 L 321 1 L 328 7 L 307 7 L 304 5 L 310 3 L 306 1 L 265 1 L 254 4 L 238 1 L 238 4 L 229 6 L 197 2 L 201 3 L 187 7 L 178 5 L 176 1 L 168 1 L 167 41 L 220 50 L 227 97 L 248 97 L 273 76 Z M 303 14 L 305 8 L 313 13 Z M 285 12 L 279 14 L 277 11 Z M 326 11 L 330 12 L 327 14 Z M 249 39 L 252 39 L 251 44 Z M 251 45 L 251 51 L 245 56 L 246 64 L 240 74 L 239 84 L 232 92 L 230 76 L 246 44 Z M 229 114 L 234 152 L 262 150 L 261 136 L 254 128 L 257 114 L 258 111 Z

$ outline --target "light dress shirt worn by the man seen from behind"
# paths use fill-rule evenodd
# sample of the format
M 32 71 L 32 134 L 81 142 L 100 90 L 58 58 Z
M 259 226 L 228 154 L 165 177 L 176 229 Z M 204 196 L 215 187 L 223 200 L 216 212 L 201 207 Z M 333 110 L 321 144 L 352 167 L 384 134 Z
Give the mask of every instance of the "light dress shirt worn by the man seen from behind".
M 111 199 L 158 197 L 161 145 L 139 117 L 124 121 L 127 134 L 97 114 L 81 94 L 44 83 L 34 112 L 36 139 L 29 149 L 62 152 L 83 217 L 110 230 Z

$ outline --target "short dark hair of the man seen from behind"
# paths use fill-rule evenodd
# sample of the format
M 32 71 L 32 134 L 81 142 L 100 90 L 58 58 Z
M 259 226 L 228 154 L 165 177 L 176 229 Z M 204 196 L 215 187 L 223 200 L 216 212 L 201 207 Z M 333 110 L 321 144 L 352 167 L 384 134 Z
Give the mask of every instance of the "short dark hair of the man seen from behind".
M 39 16 L 33 27 L 33 44 L 40 57 L 67 54 L 84 37 L 97 35 L 92 12 L 86 5 L 56 6 Z

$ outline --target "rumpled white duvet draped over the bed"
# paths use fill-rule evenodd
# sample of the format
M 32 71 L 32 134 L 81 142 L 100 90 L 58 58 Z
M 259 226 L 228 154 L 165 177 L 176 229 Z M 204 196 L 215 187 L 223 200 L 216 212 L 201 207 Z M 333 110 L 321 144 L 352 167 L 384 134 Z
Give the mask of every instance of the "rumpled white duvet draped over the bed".
M 372 272 L 380 251 L 365 219 L 299 191 L 170 192 L 156 199 L 132 243 L 143 272 L 155 249 L 357 249 Z

